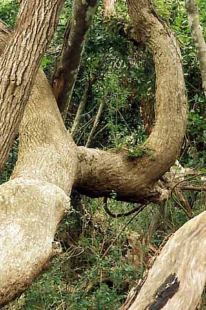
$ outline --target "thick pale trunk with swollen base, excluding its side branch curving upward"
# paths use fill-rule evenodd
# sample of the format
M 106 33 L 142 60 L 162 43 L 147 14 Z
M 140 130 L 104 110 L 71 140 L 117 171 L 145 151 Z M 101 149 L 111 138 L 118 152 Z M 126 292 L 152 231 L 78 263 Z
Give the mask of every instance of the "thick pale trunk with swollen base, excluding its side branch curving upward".
M 9 33 L 1 23 L 0 28 L 2 51 Z M 17 165 L 0 187 L 0 307 L 19 296 L 58 250 L 54 234 L 70 204 L 74 151 L 39 70 L 19 127 Z

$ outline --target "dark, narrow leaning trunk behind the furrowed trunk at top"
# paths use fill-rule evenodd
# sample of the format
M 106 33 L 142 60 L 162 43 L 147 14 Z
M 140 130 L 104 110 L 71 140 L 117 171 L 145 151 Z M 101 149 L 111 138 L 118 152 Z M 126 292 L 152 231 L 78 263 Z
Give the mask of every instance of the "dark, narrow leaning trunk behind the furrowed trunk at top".
M 68 34 L 65 33 L 65 42 L 61 53 L 61 59 L 54 72 L 53 90 L 59 106 L 59 110 L 65 119 L 72 96 L 77 72 L 81 63 L 81 55 L 90 28 L 97 0 L 76 0 L 74 14 Z

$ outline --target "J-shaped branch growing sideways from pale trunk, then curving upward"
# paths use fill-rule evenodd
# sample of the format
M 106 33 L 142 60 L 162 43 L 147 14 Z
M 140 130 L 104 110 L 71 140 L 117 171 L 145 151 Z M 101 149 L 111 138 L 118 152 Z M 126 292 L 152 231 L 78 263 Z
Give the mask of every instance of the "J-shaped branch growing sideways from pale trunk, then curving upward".
M 147 5 L 146 5 L 147 4 Z M 173 34 L 152 13 L 149 1 L 128 0 L 136 40 L 154 56 L 156 120 L 145 142 L 145 156 L 128 158 L 127 152 L 104 152 L 79 147 L 79 173 L 74 187 L 90 196 L 110 196 L 125 201 L 160 201 L 168 192 L 156 180 L 171 167 L 187 124 L 187 98 L 181 53 Z

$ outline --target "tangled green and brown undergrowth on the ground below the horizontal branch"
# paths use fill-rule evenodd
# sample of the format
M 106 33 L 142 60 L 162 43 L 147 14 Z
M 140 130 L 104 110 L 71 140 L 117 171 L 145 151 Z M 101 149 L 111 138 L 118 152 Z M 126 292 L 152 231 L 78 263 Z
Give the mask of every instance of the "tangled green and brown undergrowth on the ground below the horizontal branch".
M 196 197 L 195 214 L 203 211 L 204 197 Z M 108 204 L 113 213 L 134 207 L 112 199 Z M 129 223 L 132 216 L 111 218 L 101 199 L 83 198 L 83 209 L 72 207 L 59 226 L 56 240 L 62 253 L 28 291 L 3 309 L 119 309 L 158 247 L 187 221 L 172 200 L 163 207 L 148 205 Z

